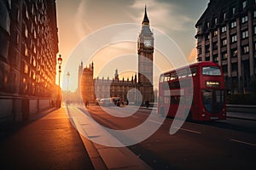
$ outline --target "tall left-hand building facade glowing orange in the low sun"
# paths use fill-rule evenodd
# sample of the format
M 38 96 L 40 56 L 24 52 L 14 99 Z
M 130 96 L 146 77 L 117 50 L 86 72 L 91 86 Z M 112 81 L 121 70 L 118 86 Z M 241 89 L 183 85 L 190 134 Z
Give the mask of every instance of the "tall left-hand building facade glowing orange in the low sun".
M 57 53 L 55 0 L 0 1 L 0 123 L 49 108 Z

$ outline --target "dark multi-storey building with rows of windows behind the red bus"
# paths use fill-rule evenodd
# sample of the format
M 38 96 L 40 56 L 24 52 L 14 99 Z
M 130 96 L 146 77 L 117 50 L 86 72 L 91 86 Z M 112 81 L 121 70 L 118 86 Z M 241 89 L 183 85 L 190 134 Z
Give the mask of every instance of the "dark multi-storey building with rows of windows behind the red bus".
M 234 94 L 256 88 L 256 0 L 210 0 L 195 27 L 197 59 L 222 66 Z

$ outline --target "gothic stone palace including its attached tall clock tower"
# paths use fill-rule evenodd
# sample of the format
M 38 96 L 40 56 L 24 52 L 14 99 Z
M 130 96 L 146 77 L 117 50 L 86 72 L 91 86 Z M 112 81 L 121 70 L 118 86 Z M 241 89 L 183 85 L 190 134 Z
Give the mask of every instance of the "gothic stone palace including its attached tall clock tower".
M 145 7 L 142 30 L 137 41 L 138 54 L 138 80 L 137 75 L 131 77 L 131 80 L 119 79 L 118 71 L 115 72 L 113 79 L 100 79 L 93 77 L 94 65 L 91 63 L 89 68 L 84 68 L 81 74 L 83 63 L 79 66 L 79 85 L 82 98 L 84 101 L 95 101 L 96 98 L 119 97 L 121 101 L 127 101 L 129 90 L 135 88 L 139 90 L 143 97 L 143 103 L 146 101 L 154 102 L 153 91 L 153 53 L 154 53 L 154 36 L 149 28 L 147 8 Z M 131 91 L 134 95 L 129 96 L 131 103 L 137 103 L 137 93 Z

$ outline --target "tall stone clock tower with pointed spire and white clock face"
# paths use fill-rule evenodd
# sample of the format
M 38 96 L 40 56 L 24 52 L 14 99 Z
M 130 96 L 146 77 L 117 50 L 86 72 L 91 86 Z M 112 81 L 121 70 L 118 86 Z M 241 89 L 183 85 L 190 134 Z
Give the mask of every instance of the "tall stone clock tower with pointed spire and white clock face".
M 147 7 L 145 6 L 142 31 L 137 40 L 138 86 L 143 95 L 143 103 L 154 102 L 153 92 L 153 53 L 154 36 L 149 28 Z

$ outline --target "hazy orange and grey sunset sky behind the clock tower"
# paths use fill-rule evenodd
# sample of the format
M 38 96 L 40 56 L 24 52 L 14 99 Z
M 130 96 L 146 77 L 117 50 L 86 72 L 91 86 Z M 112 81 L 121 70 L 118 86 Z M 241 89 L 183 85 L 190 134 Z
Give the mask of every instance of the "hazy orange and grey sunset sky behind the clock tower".
M 167 65 L 164 54 L 155 48 L 154 86 L 157 86 L 160 72 L 171 70 L 175 59 L 180 55 L 185 56 L 189 63 L 195 62 L 195 23 L 207 8 L 208 2 L 209 0 L 56 0 L 59 53 L 63 57 L 62 89 L 67 89 L 69 71 L 68 89 L 75 91 L 81 61 L 84 66 L 94 62 L 95 77 L 112 79 L 114 71 L 118 69 L 119 78 L 131 80 L 131 76 L 137 71 L 137 37 L 141 31 L 145 4 L 155 45 L 165 45 L 157 39 L 161 32 L 172 39 L 179 50 L 178 53 L 173 52 L 172 63 Z M 114 31 L 120 34 L 123 41 L 120 41 L 122 38 L 111 35 Z

